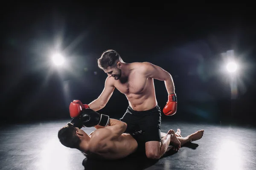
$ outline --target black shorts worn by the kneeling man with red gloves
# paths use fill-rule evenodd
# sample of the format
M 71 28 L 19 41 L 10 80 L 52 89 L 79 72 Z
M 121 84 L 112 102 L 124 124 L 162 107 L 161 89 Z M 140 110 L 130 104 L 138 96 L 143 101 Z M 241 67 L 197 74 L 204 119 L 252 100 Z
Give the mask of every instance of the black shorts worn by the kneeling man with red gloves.
M 145 142 L 161 141 L 161 110 L 158 105 L 148 111 L 134 111 L 128 106 L 120 120 L 127 123 L 124 133 L 142 130 L 145 133 Z

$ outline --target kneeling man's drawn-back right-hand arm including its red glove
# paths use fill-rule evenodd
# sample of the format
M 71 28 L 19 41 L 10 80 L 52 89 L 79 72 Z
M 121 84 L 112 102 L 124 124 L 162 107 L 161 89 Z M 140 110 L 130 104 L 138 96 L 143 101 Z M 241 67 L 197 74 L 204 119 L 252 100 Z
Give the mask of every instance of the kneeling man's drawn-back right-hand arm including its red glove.
M 150 62 L 143 62 L 143 74 L 153 79 L 164 81 L 168 92 L 168 102 L 163 108 L 163 113 L 167 116 L 174 115 L 177 111 L 177 96 L 175 94 L 175 86 L 171 74 Z

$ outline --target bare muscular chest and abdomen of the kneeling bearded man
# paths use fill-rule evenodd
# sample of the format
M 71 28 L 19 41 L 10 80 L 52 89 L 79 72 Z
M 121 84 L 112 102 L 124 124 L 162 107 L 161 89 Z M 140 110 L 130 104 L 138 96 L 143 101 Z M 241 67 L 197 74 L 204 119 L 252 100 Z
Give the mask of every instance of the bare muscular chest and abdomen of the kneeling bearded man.
M 128 79 L 113 80 L 114 86 L 121 93 L 125 94 L 129 105 L 134 111 L 146 111 L 157 105 L 154 89 L 154 79 L 143 75 L 140 64 L 133 63 Z

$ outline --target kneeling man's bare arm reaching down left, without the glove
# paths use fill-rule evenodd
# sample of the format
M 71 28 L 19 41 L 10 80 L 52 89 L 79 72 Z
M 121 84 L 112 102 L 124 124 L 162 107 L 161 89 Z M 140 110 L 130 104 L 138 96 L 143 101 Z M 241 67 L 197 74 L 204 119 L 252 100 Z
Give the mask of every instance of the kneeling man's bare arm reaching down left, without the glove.
M 113 94 L 113 91 L 115 89 L 113 80 L 107 77 L 105 80 L 105 87 L 102 91 L 102 94 L 100 96 L 93 100 L 93 102 L 90 102 L 89 107 L 93 111 L 99 111 L 100 109 L 104 108 L 105 105 L 108 103 L 108 100 Z

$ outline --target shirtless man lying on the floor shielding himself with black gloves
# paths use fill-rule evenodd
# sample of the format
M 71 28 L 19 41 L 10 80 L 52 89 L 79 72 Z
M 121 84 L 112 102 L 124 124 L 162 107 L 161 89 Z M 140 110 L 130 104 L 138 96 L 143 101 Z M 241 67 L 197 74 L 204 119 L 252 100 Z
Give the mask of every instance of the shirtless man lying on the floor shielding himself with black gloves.
M 96 130 L 87 135 L 82 127 L 95 127 Z M 87 158 L 122 159 L 131 154 L 145 154 L 145 138 L 142 131 L 124 133 L 127 124 L 117 119 L 99 114 L 92 109 L 84 109 L 80 116 L 72 119 L 58 131 L 58 139 L 66 147 L 80 150 Z M 161 133 L 162 141 L 167 140 L 173 150 L 203 136 L 204 130 L 199 130 L 185 138 L 169 130 Z M 161 146 L 165 149 L 167 146 Z

